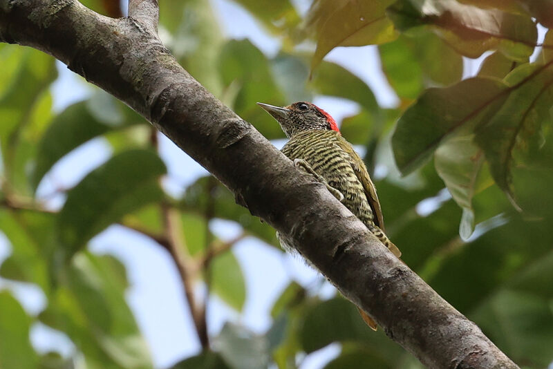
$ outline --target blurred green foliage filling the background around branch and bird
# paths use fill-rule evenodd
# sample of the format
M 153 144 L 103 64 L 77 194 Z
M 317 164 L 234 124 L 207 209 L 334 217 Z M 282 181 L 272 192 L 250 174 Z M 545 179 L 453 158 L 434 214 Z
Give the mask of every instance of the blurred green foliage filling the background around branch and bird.
M 120 14 L 113 1 L 82 2 Z M 375 182 L 403 260 L 514 361 L 550 365 L 553 33 L 543 47 L 536 42 L 538 23 L 553 26 L 553 1 L 313 0 L 305 13 L 294 1 L 233 2 L 280 42 L 276 55 L 248 39 L 225 39 L 215 3 L 204 0 L 162 1 L 160 36 L 182 66 L 268 139 L 284 135 L 256 102 L 327 95 L 356 103 L 341 131 L 364 149 L 371 172 L 387 173 Z M 366 81 L 323 61 L 337 46 L 365 45 L 377 45 L 397 106 L 379 106 Z M 467 78 L 462 58 L 480 55 L 478 75 Z M 53 111 L 52 58 L 0 44 L 0 64 L 0 231 L 10 246 L 0 276 L 46 297 L 44 310 L 30 313 L 1 285 L 0 368 L 153 367 L 124 298 L 124 265 L 86 249 L 113 223 L 165 248 L 175 243 L 172 252 L 194 282 L 241 313 L 247 281 L 229 249 L 249 237 L 280 250 L 274 230 L 210 177 L 169 196 L 160 185 L 167 169 L 156 136 L 106 93 L 94 89 Z M 55 188 L 61 207 L 37 195 L 44 182 L 55 182 L 57 163 L 91 140 L 105 142 L 110 158 L 73 188 Z M 241 234 L 219 240 L 213 219 L 235 223 Z M 172 368 L 301 368 L 330 343 L 341 352 L 326 368 L 422 368 L 382 331 L 368 330 L 339 296 L 321 299 L 292 281 L 270 315 L 261 334 L 227 322 L 211 350 Z M 64 334 L 75 350 L 37 352 L 29 332 L 38 323 Z

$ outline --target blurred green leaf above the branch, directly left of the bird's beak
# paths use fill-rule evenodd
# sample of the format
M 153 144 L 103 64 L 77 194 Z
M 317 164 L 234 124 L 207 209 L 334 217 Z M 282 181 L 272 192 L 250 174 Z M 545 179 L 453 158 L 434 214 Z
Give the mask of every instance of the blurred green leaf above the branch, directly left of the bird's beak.
M 284 97 L 271 74 L 268 59 L 249 40 L 229 41 L 219 58 L 219 70 L 225 87 L 238 84 L 240 89 L 232 108 L 266 138 L 283 138 L 279 124 L 256 102 L 285 105 Z

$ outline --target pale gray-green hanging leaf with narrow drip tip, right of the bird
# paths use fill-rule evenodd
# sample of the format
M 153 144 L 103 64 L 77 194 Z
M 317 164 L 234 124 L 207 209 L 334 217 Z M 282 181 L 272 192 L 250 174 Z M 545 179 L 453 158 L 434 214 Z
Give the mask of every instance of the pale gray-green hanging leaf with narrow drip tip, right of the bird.
M 467 240 L 474 231 L 473 196 L 493 184 L 489 173 L 482 171 L 485 156 L 474 144 L 473 138 L 474 135 L 453 137 L 440 145 L 434 154 L 438 175 L 444 180 L 453 200 L 463 209 L 459 225 L 463 240 Z

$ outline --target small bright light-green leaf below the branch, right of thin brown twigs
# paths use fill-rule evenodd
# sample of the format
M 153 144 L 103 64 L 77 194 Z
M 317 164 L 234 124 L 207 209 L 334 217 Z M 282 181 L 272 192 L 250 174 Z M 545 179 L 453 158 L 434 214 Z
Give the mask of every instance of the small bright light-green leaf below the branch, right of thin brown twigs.
M 214 258 L 211 265 L 212 291 L 231 308 L 242 311 L 246 299 L 246 286 L 242 268 L 232 252 Z

